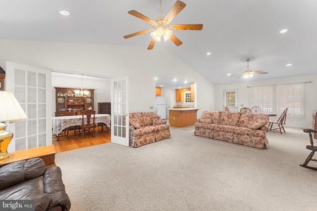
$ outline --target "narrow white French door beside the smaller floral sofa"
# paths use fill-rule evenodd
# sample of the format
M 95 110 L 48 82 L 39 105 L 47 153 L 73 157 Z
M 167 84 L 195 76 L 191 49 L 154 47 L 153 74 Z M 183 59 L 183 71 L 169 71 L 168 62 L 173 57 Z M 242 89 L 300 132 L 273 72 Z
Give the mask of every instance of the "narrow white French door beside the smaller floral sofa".
M 111 79 L 111 142 L 129 146 L 129 78 Z

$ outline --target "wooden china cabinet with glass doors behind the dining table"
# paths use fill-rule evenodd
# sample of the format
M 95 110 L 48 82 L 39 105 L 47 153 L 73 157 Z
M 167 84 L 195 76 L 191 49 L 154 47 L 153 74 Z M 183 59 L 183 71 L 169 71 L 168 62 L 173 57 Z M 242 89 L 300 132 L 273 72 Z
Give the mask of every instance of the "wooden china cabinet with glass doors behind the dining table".
M 56 117 L 74 115 L 74 109 L 94 110 L 95 89 L 85 89 L 89 91 L 86 97 L 76 95 L 75 90 L 80 89 L 55 87 Z

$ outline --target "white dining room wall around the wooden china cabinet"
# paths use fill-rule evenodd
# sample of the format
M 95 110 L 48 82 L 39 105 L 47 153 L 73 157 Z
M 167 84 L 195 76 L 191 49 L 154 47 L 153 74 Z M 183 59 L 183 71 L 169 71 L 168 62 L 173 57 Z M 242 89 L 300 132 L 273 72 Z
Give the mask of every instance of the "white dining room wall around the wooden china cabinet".
M 54 87 L 67 87 L 67 88 L 81 88 L 81 79 L 62 78 L 52 76 L 52 117 L 55 116 L 56 111 L 56 94 Z M 94 90 L 94 110 L 98 111 L 98 102 L 111 102 L 110 96 L 110 81 L 92 81 L 83 79 L 83 90 Z

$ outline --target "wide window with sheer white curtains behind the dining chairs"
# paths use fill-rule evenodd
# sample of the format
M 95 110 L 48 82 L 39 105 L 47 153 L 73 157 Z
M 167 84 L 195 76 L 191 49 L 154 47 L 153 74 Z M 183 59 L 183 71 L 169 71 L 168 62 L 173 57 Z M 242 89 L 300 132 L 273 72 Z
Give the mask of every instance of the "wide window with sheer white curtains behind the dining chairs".
M 264 113 L 304 114 L 304 84 L 255 86 L 250 89 L 250 105 L 260 106 Z

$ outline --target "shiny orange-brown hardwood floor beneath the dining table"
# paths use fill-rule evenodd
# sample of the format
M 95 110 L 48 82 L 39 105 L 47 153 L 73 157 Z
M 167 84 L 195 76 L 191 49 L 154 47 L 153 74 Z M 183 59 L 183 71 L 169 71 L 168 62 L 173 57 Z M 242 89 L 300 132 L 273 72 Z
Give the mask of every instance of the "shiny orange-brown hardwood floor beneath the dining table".
M 93 137 L 92 132 L 90 132 L 90 134 L 86 132 L 85 138 L 83 139 L 82 136 L 79 136 L 78 132 L 76 132 L 76 135 L 74 135 L 74 131 L 70 130 L 68 138 L 66 136 L 59 136 L 59 140 L 57 141 L 57 137 L 53 136 L 53 144 L 55 145 L 57 153 L 60 153 L 111 142 L 110 129 L 108 129 L 108 132 L 105 128 L 102 131 L 101 126 L 97 126 L 95 133 L 96 135 Z

